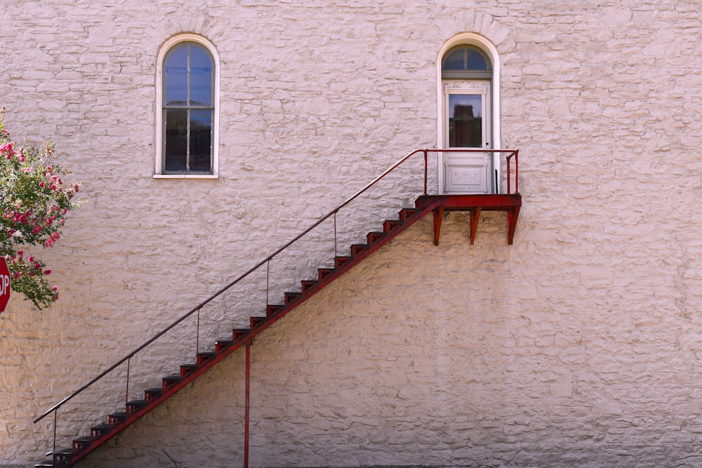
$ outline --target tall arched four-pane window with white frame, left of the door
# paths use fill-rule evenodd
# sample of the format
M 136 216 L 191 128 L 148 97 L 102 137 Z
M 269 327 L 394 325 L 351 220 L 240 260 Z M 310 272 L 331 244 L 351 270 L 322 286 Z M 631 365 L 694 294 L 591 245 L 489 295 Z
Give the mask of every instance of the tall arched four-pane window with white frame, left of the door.
M 207 41 L 177 36 L 159 54 L 156 174 L 217 174 L 218 59 Z

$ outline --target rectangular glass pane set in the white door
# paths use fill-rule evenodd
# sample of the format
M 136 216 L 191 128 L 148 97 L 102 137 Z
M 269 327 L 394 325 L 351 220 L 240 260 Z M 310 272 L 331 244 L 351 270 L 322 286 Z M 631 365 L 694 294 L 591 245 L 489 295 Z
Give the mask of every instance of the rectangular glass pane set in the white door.
M 449 147 L 482 146 L 482 95 L 449 94 Z

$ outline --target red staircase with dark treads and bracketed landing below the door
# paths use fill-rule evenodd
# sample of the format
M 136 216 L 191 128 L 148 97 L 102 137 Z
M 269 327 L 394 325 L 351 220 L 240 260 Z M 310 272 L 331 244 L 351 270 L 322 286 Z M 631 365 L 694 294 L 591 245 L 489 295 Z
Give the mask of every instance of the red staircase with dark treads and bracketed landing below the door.
M 425 163 L 426 163 L 426 153 L 428 151 L 436 151 L 436 150 L 418 150 L 418 152 L 424 152 L 425 154 Z M 404 161 L 405 159 L 409 158 L 412 154 L 416 154 L 416 152 L 413 152 L 409 154 L 408 156 L 405 156 L 405 158 L 402 160 Z M 516 155 L 516 150 L 515 153 Z M 400 163 L 402 163 L 400 161 Z M 399 163 L 398 163 L 399 165 Z M 515 161 L 516 165 L 516 161 Z M 386 171 L 385 174 L 388 172 L 392 171 L 393 168 L 397 167 L 393 166 L 390 168 L 390 170 Z M 383 174 L 383 175 L 385 175 Z M 383 178 L 383 175 L 380 176 L 380 178 Z M 371 182 L 371 185 L 374 185 L 380 178 L 376 179 L 375 181 Z M 366 186 L 362 190 L 362 192 L 371 185 Z M 361 193 L 361 192 L 359 192 Z M 352 197 L 352 199 L 355 198 Z M 351 200 L 351 199 L 350 199 Z M 349 201 L 350 201 L 349 200 Z M 348 201 L 346 202 L 348 203 Z M 322 288 L 326 287 L 329 285 L 332 281 L 336 280 L 338 277 L 340 277 L 342 274 L 345 272 L 349 271 L 355 265 L 358 265 L 360 262 L 362 262 L 365 258 L 367 258 L 369 255 L 371 255 L 373 252 L 378 250 L 380 247 L 384 246 L 388 242 L 390 242 L 392 239 L 395 238 L 398 234 L 401 232 L 404 232 L 405 229 L 413 225 L 415 222 L 418 220 L 422 219 L 425 217 L 425 215 L 428 215 L 428 213 L 434 213 L 434 241 L 436 244 L 438 244 L 439 241 L 439 231 L 441 229 L 441 220 L 442 220 L 442 215 L 444 211 L 446 210 L 467 210 L 470 212 L 470 243 L 473 243 L 473 240 L 475 238 L 475 227 L 477 226 L 477 221 L 479 219 L 479 215 L 481 211 L 485 210 L 499 210 L 499 211 L 505 211 L 508 213 L 508 243 L 512 243 L 512 237 L 515 232 L 515 226 L 517 222 L 517 218 L 519 216 L 519 208 L 522 204 L 522 199 L 519 194 L 494 194 L 494 195 L 456 195 L 456 196 L 431 196 L 427 195 L 426 193 L 423 196 L 420 196 L 415 203 L 414 208 L 402 208 L 402 210 L 399 210 L 397 219 L 392 219 L 392 220 L 385 220 L 383 222 L 383 230 L 382 231 L 374 231 L 374 232 L 369 232 L 366 235 L 366 243 L 355 243 L 350 246 L 350 251 L 348 255 L 336 255 L 333 258 L 333 267 L 327 267 L 327 268 L 319 268 L 317 269 L 317 277 L 315 279 L 309 279 L 309 280 L 304 280 L 300 282 L 300 290 L 299 291 L 294 291 L 294 292 L 286 292 L 284 293 L 284 300 L 282 304 L 267 304 L 265 305 L 265 316 L 251 316 L 249 319 L 249 328 L 234 328 L 232 330 L 232 335 L 231 337 L 227 337 L 224 340 L 216 340 L 213 343 L 213 347 L 211 348 L 211 351 L 208 352 L 197 352 L 197 355 L 194 356 L 194 362 L 193 363 L 185 363 L 180 365 L 180 368 L 178 369 L 177 373 L 173 373 L 171 375 L 166 375 L 165 377 L 162 377 L 161 379 L 161 387 L 157 388 L 147 388 L 144 390 L 143 394 L 143 399 L 137 399 L 137 400 L 128 400 L 125 403 L 124 408 L 121 408 L 120 410 L 115 411 L 114 413 L 111 413 L 110 415 L 107 415 L 107 420 L 105 422 L 102 422 L 101 424 L 95 424 L 94 426 L 90 427 L 90 433 L 89 435 L 85 436 L 79 436 L 73 439 L 72 441 L 72 446 L 70 448 L 65 448 L 61 450 L 56 450 L 55 444 L 56 444 L 56 434 L 55 434 L 55 422 L 54 422 L 54 449 L 51 450 L 51 452 L 47 453 L 48 457 L 51 457 L 51 460 L 41 463 L 41 464 L 35 464 L 35 467 L 69 467 L 72 466 L 72 464 L 78 462 L 82 458 L 84 458 L 88 453 L 91 453 L 93 450 L 98 448 L 99 446 L 102 445 L 102 443 L 105 443 L 106 441 L 110 440 L 112 437 L 115 435 L 119 434 L 122 430 L 124 430 L 126 427 L 128 427 L 130 424 L 138 420 L 140 417 L 148 413 L 150 410 L 152 410 L 154 407 L 158 406 L 160 403 L 168 399 L 170 396 L 178 392 L 180 389 L 188 385 L 190 382 L 192 382 L 194 379 L 199 377 L 199 375 L 205 373 L 208 369 L 211 367 L 215 366 L 216 363 L 222 361 L 225 359 L 226 356 L 232 354 L 232 352 L 236 351 L 242 346 L 247 347 L 247 389 L 248 389 L 248 347 L 251 345 L 251 342 L 256 335 L 259 333 L 263 333 L 263 331 L 271 326 L 273 323 L 277 322 L 279 319 L 282 319 L 286 314 L 289 314 L 289 312 L 293 311 L 298 305 L 302 304 L 305 302 L 305 300 L 309 299 L 312 297 L 312 295 L 316 294 L 319 292 L 319 290 L 322 290 Z M 338 209 L 337 209 L 338 210 Z M 333 211 L 331 214 L 336 215 L 336 211 Z M 329 215 L 323 219 L 328 218 Z M 319 224 L 319 223 L 317 223 Z M 315 225 L 316 226 L 316 225 Z M 314 227 L 314 226 L 313 226 Z M 312 228 L 310 228 L 312 229 Z M 309 229 L 308 229 L 309 231 Z M 306 233 L 306 232 L 305 232 Z M 304 235 L 305 233 L 301 234 L 300 236 Z M 296 241 L 298 238 L 293 239 L 293 242 Z M 288 244 L 290 245 L 290 244 Z M 284 248 L 286 248 L 285 246 Z M 281 249 L 282 250 L 282 249 Z M 279 250 L 280 251 L 280 250 Z M 278 252 L 279 252 L 278 251 Z M 278 253 L 277 252 L 277 253 Z M 277 255 L 277 253 L 274 253 L 273 255 Z M 272 257 L 270 257 L 272 258 Z M 268 260 L 270 260 L 270 258 Z M 265 262 L 265 260 L 264 260 Z M 254 269 L 258 268 L 260 265 L 262 265 L 263 262 L 261 262 L 259 265 L 254 267 Z M 247 276 L 251 271 L 254 269 L 251 269 L 249 272 L 246 274 L 242 275 L 239 277 L 239 279 L 243 278 L 244 276 Z M 233 283 L 237 283 L 239 279 L 235 280 Z M 232 283 L 232 284 L 233 284 Z M 223 290 L 226 290 L 229 288 L 231 284 Z M 223 291 L 221 290 L 220 293 Z M 217 293 L 216 295 L 219 295 L 220 293 Z M 215 295 L 215 296 L 216 296 Z M 207 301 L 206 301 L 207 302 Z M 205 303 L 206 303 L 205 302 Z M 204 305 L 203 303 L 202 305 Z M 166 331 L 170 330 L 173 328 L 173 326 L 176 326 L 180 321 L 182 321 L 186 316 L 189 316 L 193 312 L 198 312 L 199 314 L 199 308 L 202 307 L 202 305 L 199 305 L 195 309 L 192 309 L 191 312 L 183 316 L 181 319 L 176 321 L 175 323 L 171 324 L 168 328 L 166 328 L 164 331 L 162 331 L 159 335 L 155 336 L 152 338 L 152 340 L 147 341 L 144 345 L 136 349 L 134 352 L 126 356 L 125 359 L 122 359 L 119 361 L 117 364 L 109 368 L 108 370 L 105 371 L 105 373 L 102 373 L 98 377 L 95 377 L 91 382 L 89 382 L 87 385 L 79 389 L 77 392 L 74 392 L 72 396 L 69 396 L 67 399 L 64 399 L 57 405 L 55 405 L 53 408 L 50 410 L 46 411 L 43 415 L 38 417 L 34 422 L 38 422 L 42 418 L 46 417 L 46 415 L 49 415 L 51 413 L 54 413 L 54 417 L 56 416 L 56 412 L 58 412 L 58 408 L 62 406 L 63 403 L 67 402 L 69 399 L 72 399 L 73 396 L 83 392 L 85 389 L 90 387 L 94 382 L 99 380 L 102 376 L 107 375 L 107 373 L 110 373 L 114 368 L 117 368 L 117 366 L 124 364 L 126 362 L 127 366 L 129 364 L 129 359 L 131 357 L 140 352 L 143 348 L 147 347 L 147 345 L 150 345 L 150 343 L 154 340 L 156 340 L 159 336 L 161 336 L 163 333 L 166 333 Z M 127 367 L 128 369 L 128 367 Z M 127 370 L 127 375 L 128 375 L 128 370 Z M 127 383 L 128 387 L 128 383 Z M 128 392 L 127 392 L 128 394 Z M 248 396 L 247 396 L 248 400 Z M 248 427 L 248 407 L 246 408 L 246 427 Z M 248 431 L 246 431 L 246 436 L 248 437 Z M 248 447 L 246 446 L 247 444 L 245 443 L 245 448 L 244 450 L 246 453 L 244 454 L 244 466 L 248 466 Z

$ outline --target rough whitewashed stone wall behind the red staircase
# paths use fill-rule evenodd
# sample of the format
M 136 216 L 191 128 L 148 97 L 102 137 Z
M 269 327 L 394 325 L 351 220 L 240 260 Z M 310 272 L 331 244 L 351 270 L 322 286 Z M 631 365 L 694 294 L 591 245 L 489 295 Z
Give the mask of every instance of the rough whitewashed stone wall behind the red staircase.
M 252 465 L 700 462 L 696 2 L 56 0 L 1 11 L 8 128 L 51 138 L 86 204 L 40 252 L 60 302 L 35 311 L 14 297 L 0 314 L 0 466 L 41 459 L 51 422 L 32 419 L 43 410 L 400 156 L 436 145 L 435 60 L 461 32 L 501 54 L 501 145 L 520 150 L 524 197 L 515 243 L 501 215 L 484 216 L 475 246 L 461 215 L 438 248 L 425 222 L 260 337 Z M 221 59 L 217 180 L 152 178 L 156 57 L 182 32 Z M 405 180 L 339 224 L 378 229 L 415 196 Z M 272 267 L 277 284 L 323 266 L 329 236 L 321 247 L 316 236 Z M 249 298 L 264 282 L 205 311 L 208 340 L 263 311 Z M 191 345 L 174 342 L 135 363 L 137 387 L 158 383 L 144 369 L 176 370 L 169 356 Z M 237 466 L 242 362 L 232 356 L 91 460 L 172 466 L 166 450 L 178 466 Z M 60 428 L 85 433 L 95 411 L 114 410 L 118 380 L 69 406 Z M 216 409 L 203 413 L 203 399 Z

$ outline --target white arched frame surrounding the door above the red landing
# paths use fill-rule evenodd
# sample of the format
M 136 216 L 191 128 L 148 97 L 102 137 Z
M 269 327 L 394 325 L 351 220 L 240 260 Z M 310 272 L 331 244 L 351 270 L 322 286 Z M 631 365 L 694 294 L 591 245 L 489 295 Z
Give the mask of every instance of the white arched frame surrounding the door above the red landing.
M 500 149 L 502 147 L 501 140 L 501 128 L 500 128 L 500 56 L 497 52 L 497 48 L 492 44 L 486 37 L 477 34 L 475 32 L 463 32 L 461 34 L 456 34 L 456 36 L 451 37 L 444 45 L 439 49 L 439 54 L 437 55 L 437 148 L 446 148 L 446 138 L 447 133 L 446 126 L 449 124 L 446 120 L 446 99 L 444 84 L 446 79 L 442 79 L 442 60 L 444 55 L 453 47 L 468 45 L 475 46 L 483 51 L 490 61 L 492 62 L 492 78 L 491 78 L 491 95 L 490 95 L 490 132 L 489 135 L 491 142 L 491 149 Z M 457 79 L 456 81 L 461 81 Z M 465 81 L 465 80 L 463 80 Z M 444 168 L 442 167 L 442 159 L 437 158 L 439 167 L 437 167 L 439 173 L 439 192 L 442 191 L 444 186 Z M 500 154 L 496 153 L 493 156 L 493 167 L 497 172 L 497 180 L 501 180 L 501 168 L 500 168 Z M 499 187 L 494 188 L 494 192 L 499 192 Z

